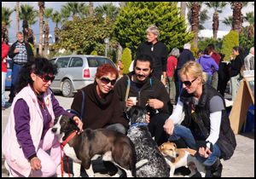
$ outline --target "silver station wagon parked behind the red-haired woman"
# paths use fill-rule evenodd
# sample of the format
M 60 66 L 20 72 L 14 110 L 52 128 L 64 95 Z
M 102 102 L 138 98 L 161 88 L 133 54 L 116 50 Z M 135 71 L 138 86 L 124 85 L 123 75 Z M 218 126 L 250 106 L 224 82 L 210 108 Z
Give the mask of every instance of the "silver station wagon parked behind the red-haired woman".
M 72 97 L 77 90 L 92 84 L 98 66 L 106 63 L 115 66 L 113 61 L 98 55 L 66 55 L 49 61 L 58 67 L 58 73 L 50 88 L 61 91 L 66 97 Z

